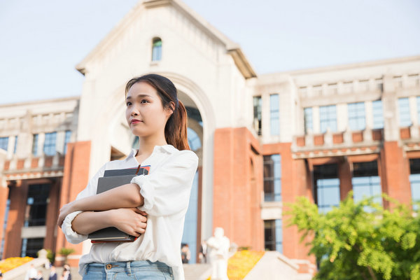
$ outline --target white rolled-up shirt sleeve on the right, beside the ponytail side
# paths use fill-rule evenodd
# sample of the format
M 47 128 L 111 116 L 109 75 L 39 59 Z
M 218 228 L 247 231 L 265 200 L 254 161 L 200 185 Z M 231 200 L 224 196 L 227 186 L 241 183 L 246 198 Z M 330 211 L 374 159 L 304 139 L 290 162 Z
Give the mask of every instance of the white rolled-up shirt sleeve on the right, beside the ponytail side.
M 131 183 L 144 197 L 140 210 L 153 216 L 187 211 L 198 158 L 192 151 L 179 151 L 149 175 L 135 176 Z

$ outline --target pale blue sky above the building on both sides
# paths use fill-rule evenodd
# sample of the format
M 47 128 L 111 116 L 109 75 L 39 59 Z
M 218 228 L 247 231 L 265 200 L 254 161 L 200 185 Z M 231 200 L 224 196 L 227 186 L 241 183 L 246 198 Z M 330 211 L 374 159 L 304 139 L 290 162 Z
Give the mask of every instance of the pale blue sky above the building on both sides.
M 257 74 L 420 55 L 418 0 L 183 0 Z M 81 94 L 80 62 L 137 0 L 0 1 L 0 104 Z

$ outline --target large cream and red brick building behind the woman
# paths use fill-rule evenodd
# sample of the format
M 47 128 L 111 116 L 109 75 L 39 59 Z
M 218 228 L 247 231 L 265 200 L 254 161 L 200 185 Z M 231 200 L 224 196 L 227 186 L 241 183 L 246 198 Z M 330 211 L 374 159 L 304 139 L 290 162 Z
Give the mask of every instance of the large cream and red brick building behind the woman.
M 356 200 L 420 200 L 420 57 L 257 75 L 239 45 L 184 3 L 151 0 L 77 69 L 80 97 L 0 106 L 2 258 L 72 247 L 76 265 L 89 250 L 66 242 L 58 209 L 137 145 L 124 87 L 149 72 L 178 88 L 200 158 L 183 236 L 193 262 L 222 227 L 238 246 L 280 251 L 310 276 L 314 259 L 283 222 L 283 202 L 304 195 L 328 211 L 350 190 Z

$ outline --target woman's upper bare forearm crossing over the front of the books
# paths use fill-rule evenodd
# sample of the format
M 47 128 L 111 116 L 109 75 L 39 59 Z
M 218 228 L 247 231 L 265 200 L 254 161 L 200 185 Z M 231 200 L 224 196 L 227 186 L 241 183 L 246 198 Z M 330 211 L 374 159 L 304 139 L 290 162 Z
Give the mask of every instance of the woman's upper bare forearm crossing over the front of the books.
M 144 204 L 144 198 L 141 196 L 139 190 L 140 188 L 137 184 L 129 183 L 98 195 L 92 195 L 64 204 L 62 209 L 59 209 L 57 225 L 61 227 L 64 218 L 74 211 L 106 211 L 139 207 Z

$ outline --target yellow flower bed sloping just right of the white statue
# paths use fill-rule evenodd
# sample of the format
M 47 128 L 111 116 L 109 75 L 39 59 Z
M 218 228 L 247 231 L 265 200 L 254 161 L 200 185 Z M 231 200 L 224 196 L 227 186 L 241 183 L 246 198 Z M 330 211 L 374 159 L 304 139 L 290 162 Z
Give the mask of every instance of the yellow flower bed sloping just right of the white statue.
M 258 260 L 264 255 L 264 251 L 238 251 L 228 260 L 228 278 L 229 280 L 244 279 L 246 274 L 253 269 Z M 211 277 L 209 277 L 210 280 Z

